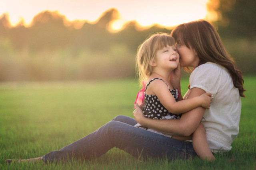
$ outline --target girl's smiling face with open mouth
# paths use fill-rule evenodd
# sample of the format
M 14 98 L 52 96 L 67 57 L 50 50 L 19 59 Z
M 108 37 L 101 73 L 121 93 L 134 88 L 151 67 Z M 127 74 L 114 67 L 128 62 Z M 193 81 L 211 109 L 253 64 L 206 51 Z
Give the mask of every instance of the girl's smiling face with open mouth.
M 167 47 L 156 52 L 156 58 L 154 59 L 152 66 L 167 70 L 176 69 L 178 67 L 179 59 L 180 56 L 176 47 L 174 45 L 167 45 Z

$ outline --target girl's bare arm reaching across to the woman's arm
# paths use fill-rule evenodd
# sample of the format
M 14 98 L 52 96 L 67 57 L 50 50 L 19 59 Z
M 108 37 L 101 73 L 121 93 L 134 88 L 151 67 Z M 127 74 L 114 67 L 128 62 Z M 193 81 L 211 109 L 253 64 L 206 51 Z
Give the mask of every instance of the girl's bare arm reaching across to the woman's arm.
M 212 98 L 209 97 L 211 94 L 206 93 L 198 97 L 194 97 L 193 99 L 176 102 L 174 97 L 170 94 L 167 85 L 162 80 L 153 81 L 150 86 L 148 86 L 147 90 L 154 93 L 162 105 L 173 114 L 185 113 L 199 106 L 209 109 L 212 101 Z

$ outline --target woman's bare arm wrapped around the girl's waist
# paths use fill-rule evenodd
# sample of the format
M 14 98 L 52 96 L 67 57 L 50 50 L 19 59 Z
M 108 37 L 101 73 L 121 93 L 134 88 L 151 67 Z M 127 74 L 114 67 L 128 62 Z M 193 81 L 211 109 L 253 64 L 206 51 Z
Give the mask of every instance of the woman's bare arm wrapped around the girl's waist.
M 206 93 L 199 88 L 192 88 L 188 95 L 188 99 L 197 97 Z M 174 136 L 190 136 L 198 127 L 205 109 L 203 107 L 197 107 L 191 111 L 182 114 L 180 119 L 168 119 L 168 120 L 156 120 L 145 118 L 142 110 L 136 105 L 134 110 L 134 119 L 145 127 L 158 130 L 165 134 Z

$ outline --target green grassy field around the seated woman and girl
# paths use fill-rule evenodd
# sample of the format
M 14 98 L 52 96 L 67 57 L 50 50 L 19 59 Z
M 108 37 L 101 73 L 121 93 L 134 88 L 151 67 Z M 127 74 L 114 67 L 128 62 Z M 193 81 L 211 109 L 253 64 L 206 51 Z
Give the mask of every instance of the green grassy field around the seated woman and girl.
M 0 169 L 256 169 L 256 77 L 245 77 L 240 132 L 232 150 L 215 162 L 137 160 L 113 148 L 92 161 L 5 164 L 58 150 L 116 115 L 132 117 L 137 81 L 0 83 Z M 182 93 L 188 79 L 182 80 Z

